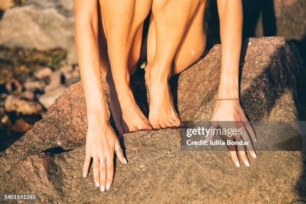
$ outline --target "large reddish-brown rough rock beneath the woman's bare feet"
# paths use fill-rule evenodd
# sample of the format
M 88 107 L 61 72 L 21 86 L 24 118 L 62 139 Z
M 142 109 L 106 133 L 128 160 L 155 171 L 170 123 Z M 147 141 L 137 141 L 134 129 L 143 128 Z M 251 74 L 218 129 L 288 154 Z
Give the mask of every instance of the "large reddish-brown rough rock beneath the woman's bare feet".
M 249 118 L 297 120 L 300 98 L 295 89 L 303 75 L 296 47 L 281 37 L 251 38 L 243 47 L 240 98 Z M 215 45 L 171 79 L 182 120 L 210 119 L 220 53 L 220 45 Z M 135 98 L 147 113 L 143 72 L 131 81 L 137 90 Z M 86 122 L 77 82 L 42 120 L 1 152 L 0 193 L 35 192 L 39 202 L 47 203 L 286 203 L 306 199 L 305 160 L 300 152 L 258 151 L 250 167 L 236 168 L 225 151 L 180 151 L 179 129 L 125 134 L 121 141 L 128 164 L 116 163 L 114 183 L 102 193 L 94 187 L 91 170 L 86 178 L 81 176 Z

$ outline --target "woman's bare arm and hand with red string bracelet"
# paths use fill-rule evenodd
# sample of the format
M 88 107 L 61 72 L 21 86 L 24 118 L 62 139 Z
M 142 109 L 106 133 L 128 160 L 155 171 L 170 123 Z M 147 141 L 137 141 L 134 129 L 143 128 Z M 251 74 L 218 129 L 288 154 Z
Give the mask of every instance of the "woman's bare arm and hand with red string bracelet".
M 218 98 L 238 98 L 239 58 L 242 40 L 242 2 L 241 0 L 217 0 L 217 6 L 220 18 L 220 37 L 222 47 Z M 243 134 L 235 136 L 235 140 L 243 139 L 249 141 L 250 135 L 252 140 L 256 141 L 255 133 L 248 123 L 239 100 L 218 100 L 211 121 L 215 126 L 222 127 L 223 125 L 225 128 L 228 128 L 227 125 L 229 125 L 231 128 L 242 128 Z M 227 139 L 233 140 L 233 137 L 228 137 Z M 250 143 L 246 147 L 252 157 L 255 158 L 256 154 L 252 144 Z M 232 161 L 237 167 L 239 167 L 240 164 L 235 146 L 229 145 L 228 149 Z M 249 166 L 244 146 L 238 146 L 238 152 L 243 163 L 246 166 Z

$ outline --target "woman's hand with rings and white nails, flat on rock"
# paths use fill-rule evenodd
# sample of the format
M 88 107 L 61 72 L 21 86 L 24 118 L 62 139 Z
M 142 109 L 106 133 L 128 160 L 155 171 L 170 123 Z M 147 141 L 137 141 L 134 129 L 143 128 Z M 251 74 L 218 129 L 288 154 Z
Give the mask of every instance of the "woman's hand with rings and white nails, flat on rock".
M 119 150 L 118 150 L 119 149 Z M 97 116 L 88 116 L 86 135 L 86 156 L 83 165 L 83 177 L 86 177 L 92 157 L 93 180 L 101 191 L 108 190 L 114 172 L 114 151 L 121 163 L 127 163 L 120 150 L 119 139 L 108 121 Z

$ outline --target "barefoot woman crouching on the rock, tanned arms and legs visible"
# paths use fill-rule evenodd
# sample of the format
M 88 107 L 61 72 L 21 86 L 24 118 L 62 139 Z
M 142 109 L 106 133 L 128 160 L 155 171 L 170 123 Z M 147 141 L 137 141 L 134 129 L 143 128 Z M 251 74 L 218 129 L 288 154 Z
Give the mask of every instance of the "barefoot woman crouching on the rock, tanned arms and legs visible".
M 83 175 L 87 175 L 92 157 L 94 183 L 101 191 L 111 186 L 114 150 L 120 148 L 108 122 L 101 72 L 106 73 L 110 109 L 120 134 L 178 127 L 180 119 L 168 80 L 195 62 L 205 49 L 205 4 L 205 0 L 74 0 L 75 42 L 88 117 Z M 218 0 L 217 4 L 222 45 L 218 97 L 238 98 L 242 3 Z M 129 79 L 136 69 L 143 21 L 150 10 L 145 67 L 150 94 L 147 119 L 135 102 Z M 224 100 L 217 102 L 211 120 L 247 119 L 238 100 Z M 238 152 L 248 165 L 245 151 Z M 253 149 L 250 153 L 255 155 Z M 116 155 L 126 163 L 122 151 Z M 230 155 L 237 165 L 236 151 L 230 150 Z M 104 160 L 106 163 L 99 163 Z

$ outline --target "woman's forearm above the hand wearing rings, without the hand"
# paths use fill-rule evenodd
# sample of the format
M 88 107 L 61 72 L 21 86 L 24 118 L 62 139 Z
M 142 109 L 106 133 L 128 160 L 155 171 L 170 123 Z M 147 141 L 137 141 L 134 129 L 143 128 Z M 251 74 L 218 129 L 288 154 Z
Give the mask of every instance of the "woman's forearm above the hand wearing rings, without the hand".
M 107 121 L 100 74 L 96 13 L 87 15 L 80 11 L 76 15 L 75 43 L 88 119 L 98 115 L 99 119 Z

